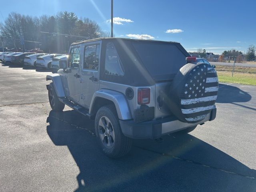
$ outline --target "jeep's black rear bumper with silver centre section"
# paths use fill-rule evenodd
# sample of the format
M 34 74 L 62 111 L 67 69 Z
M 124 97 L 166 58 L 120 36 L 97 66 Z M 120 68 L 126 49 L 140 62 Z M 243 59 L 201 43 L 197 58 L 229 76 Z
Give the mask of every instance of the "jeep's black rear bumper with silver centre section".
M 123 134 L 127 137 L 133 139 L 155 139 L 169 133 L 202 124 L 206 121 L 212 121 L 215 117 L 216 108 L 213 109 L 204 120 L 198 123 L 181 122 L 175 116 L 140 123 L 135 123 L 134 120 L 119 120 L 119 122 Z

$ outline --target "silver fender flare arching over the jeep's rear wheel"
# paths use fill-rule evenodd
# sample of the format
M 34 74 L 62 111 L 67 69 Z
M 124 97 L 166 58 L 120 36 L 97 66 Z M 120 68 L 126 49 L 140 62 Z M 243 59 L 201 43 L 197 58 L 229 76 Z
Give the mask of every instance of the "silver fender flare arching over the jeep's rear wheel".
M 94 93 L 94 95 L 92 96 L 91 104 L 90 104 L 89 114 L 92 113 L 92 110 L 94 108 L 94 104 L 97 98 L 104 98 L 112 101 L 116 107 L 116 112 L 119 119 L 121 120 L 132 119 L 130 108 L 124 94 L 117 91 L 108 90 L 108 89 L 101 89 Z

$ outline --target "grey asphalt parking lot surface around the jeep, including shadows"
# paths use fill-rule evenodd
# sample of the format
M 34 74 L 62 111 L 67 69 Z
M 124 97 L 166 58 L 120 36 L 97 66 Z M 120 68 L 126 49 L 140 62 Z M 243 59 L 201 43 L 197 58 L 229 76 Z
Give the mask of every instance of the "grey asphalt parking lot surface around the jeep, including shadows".
M 49 73 L 0 63 L 0 191 L 256 191 L 256 86 L 221 83 L 216 120 L 112 160 L 92 120 L 51 111 Z

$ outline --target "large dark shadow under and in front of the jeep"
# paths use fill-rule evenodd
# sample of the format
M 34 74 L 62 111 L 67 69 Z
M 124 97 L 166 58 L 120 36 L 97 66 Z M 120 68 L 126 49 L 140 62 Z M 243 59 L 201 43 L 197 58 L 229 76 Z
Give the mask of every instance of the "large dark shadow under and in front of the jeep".
M 76 191 L 256 189 L 255 170 L 190 134 L 134 140 L 130 154 L 110 159 L 97 146 L 93 120 L 68 110 L 51 111 L 47 122 L 52 142 L 67 146 L 80 169 Z

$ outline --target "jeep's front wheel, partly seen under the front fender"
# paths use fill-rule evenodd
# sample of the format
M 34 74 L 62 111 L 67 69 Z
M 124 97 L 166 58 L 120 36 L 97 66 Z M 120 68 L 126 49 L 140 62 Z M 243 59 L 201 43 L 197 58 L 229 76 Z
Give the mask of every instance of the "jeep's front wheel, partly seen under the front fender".
M 58 96 L 55 92 L 55 89 L 52 83 L 50 83 L 48 87 L 48 98 L 49 98 L 49 102 L 52 110 L 62 111 L 64 109 L 65 104 L 60 102 L 60 100 L 58 99 Z

